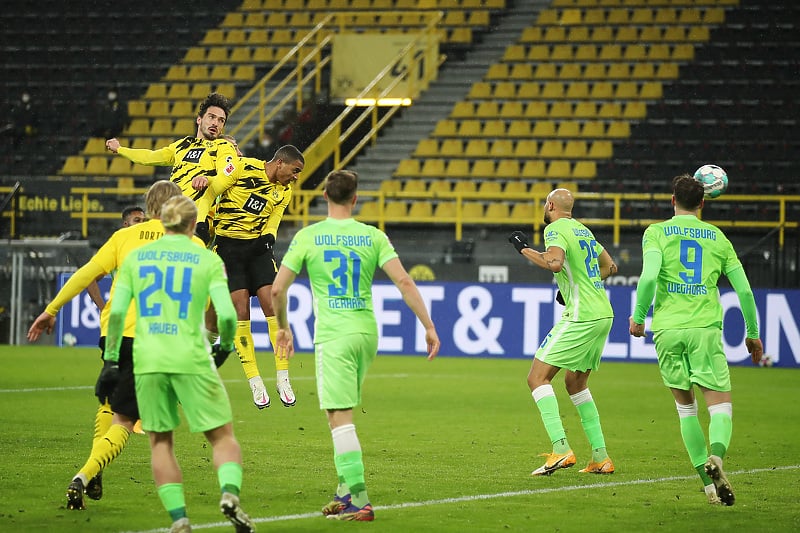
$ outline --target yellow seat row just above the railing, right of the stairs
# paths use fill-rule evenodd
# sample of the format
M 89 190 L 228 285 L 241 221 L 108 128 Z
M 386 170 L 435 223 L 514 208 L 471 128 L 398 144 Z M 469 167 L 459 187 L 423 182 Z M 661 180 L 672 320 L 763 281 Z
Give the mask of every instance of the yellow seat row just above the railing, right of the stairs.
M 401 159 L 393 177 L 453 179 L 591 179 L 597 175 L 596 161 L 547 161 L 544 159 Z

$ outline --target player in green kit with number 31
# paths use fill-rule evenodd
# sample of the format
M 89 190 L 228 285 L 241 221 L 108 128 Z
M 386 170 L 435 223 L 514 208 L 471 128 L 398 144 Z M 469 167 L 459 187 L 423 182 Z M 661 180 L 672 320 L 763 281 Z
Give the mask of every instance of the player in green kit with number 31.
M 280 328 L 279 355 L 291 357 L 287 292 L 305 265 L 314 298 L 317 393 L 320 408 L 328 415 L 339 477 L 336 495 L 322 512 L 337 520 L 370 521 L 375 515 L 367 496 L 353 408 L 361 402 L 364 378 L 378 350 L 372 310 L 372 280 L 378 267 L 400 289 L 425 328 L 428 360 L 436 357 L 440 343 L 425 302 L 386 234 L 352 218 L 357 184 L 355 172 L 328 174 L 324 190 L 328 218 L 297 232 L 272 285 L 272 302 Z

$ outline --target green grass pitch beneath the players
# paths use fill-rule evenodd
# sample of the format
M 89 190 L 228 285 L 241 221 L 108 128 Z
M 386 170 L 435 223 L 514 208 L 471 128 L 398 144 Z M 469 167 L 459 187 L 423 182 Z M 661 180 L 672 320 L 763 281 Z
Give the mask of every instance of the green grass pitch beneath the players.
M 272 355 L 259 354 L 272 376 Z M 549 451 L 525 383 L 530 361 L 379 356 L 356 427 L 371 524 L 319 512 L 335 485 L 330 433 L 319 410 L 313 358 L 291 364 L 297 406 L 257 410 L 241 366 L 221 369 L 244 454 L 242 504 L 259 531 L 625 532 L 800 530 L 800 371 L 734 367 L 734 433 L 725 467 L 733 507 L 706 503 L 688 462 L 669 392 L 653 364 L 608 363 L 590 380 L 610 476 L 581 474 L 590 450 L 578 414 L 554 381 L 578 465 L 530 476 Z M 132 435 L 106 470 L 105 495 L 85 511 L 65 490 L 91 445 L 97 350 L 0 346 L 0 531 L 164 531 L 146 437 Z M 271 379 L 265 382 L 272 383 Z M 701 421 L 708 412 L 700 403 Z M 210 448 L 185 425 L 176 433 L 187 507 L 196 530 L 230 531 L 219 513 Z

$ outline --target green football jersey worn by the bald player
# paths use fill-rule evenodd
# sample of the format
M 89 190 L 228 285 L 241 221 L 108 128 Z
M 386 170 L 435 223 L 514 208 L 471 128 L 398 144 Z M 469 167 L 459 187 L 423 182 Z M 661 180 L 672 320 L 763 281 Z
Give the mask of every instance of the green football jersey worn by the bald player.
M 597 258 L 603 246 L 591 230 L 574 218 L 559 218 L 544 229 L 545 249 L 564 250 L 564 266 L 554 273 L 564 297 L 563 320 L 586 322 L 614 316 Z

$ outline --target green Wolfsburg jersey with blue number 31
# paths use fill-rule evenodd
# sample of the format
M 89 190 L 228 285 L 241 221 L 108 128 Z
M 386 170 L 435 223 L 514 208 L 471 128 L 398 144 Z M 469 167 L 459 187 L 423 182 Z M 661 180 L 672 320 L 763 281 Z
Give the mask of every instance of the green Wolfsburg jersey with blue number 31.
M 315 343 L 352 333 L 377 335 L 372 279 L 378 267 L 395 257 L 385 233 L 352 218 L 327 218 L 297 232 L 281 265 L 295 274 L 306 266 Z

